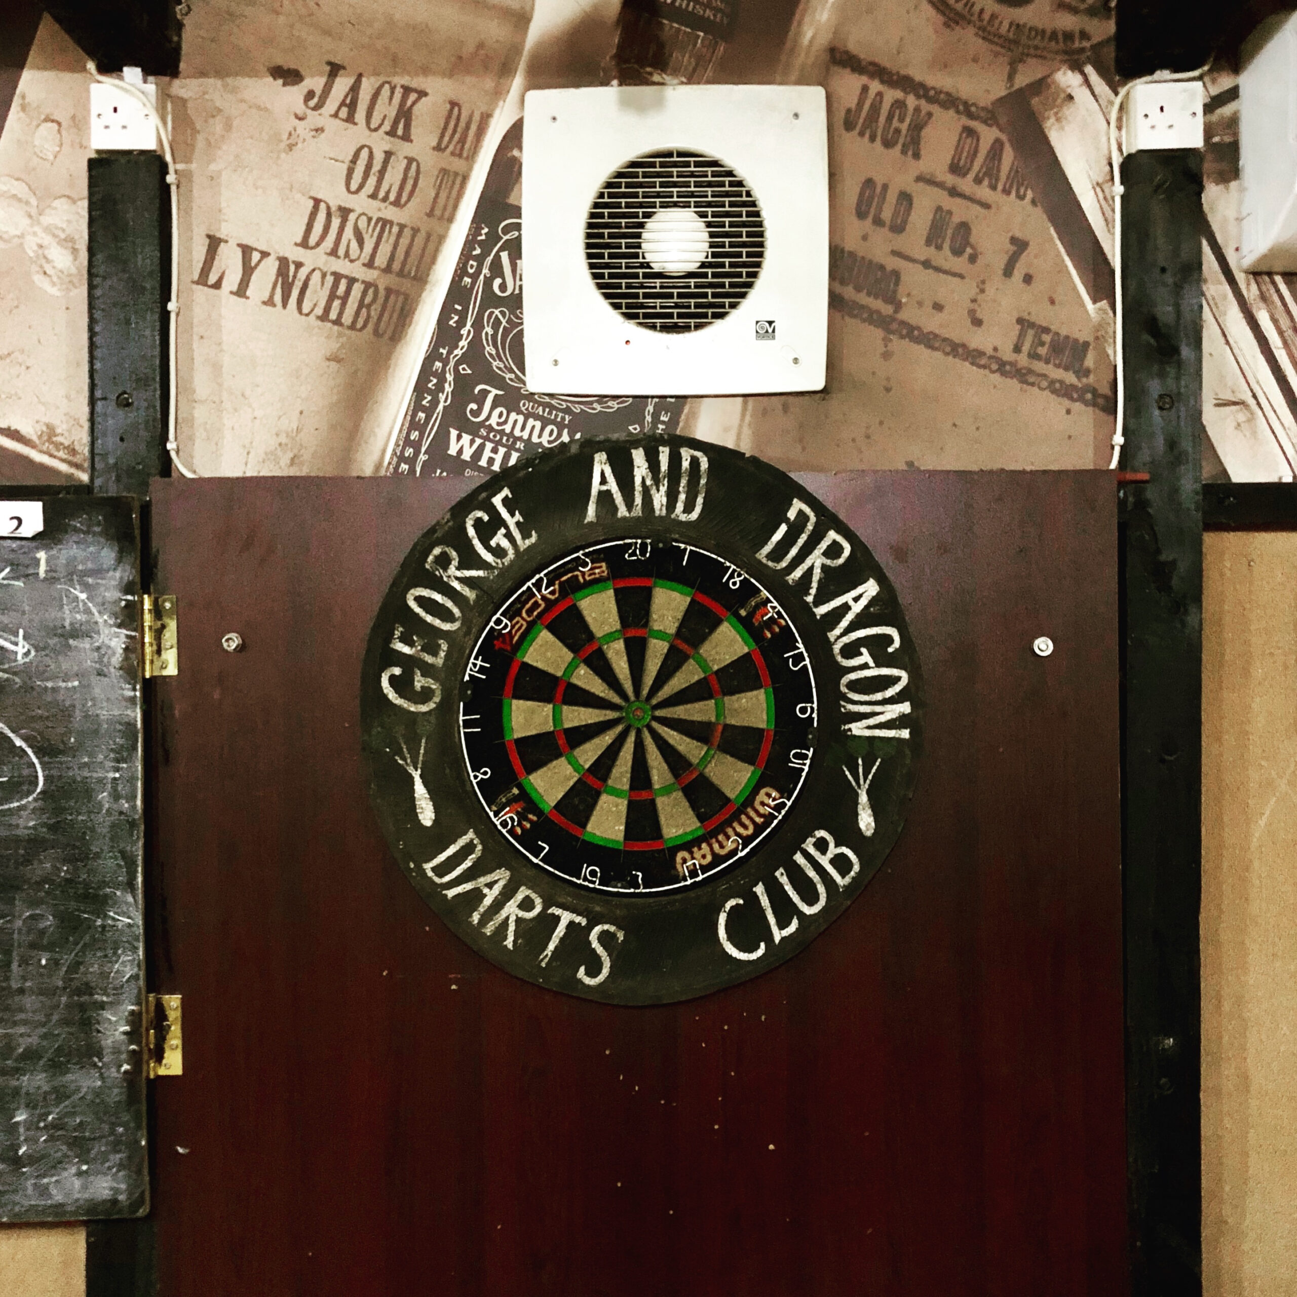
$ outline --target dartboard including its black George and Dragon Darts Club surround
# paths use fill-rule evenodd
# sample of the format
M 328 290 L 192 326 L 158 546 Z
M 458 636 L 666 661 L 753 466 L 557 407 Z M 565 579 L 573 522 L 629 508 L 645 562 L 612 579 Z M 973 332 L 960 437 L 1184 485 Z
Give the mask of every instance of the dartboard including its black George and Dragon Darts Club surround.
M 782 962 L 901 829 L 918 660 L 804 486 L 674 437 L 479 485 L 375 620 L 364 755 L 399 865 L 480 955 L 647 1004 Z

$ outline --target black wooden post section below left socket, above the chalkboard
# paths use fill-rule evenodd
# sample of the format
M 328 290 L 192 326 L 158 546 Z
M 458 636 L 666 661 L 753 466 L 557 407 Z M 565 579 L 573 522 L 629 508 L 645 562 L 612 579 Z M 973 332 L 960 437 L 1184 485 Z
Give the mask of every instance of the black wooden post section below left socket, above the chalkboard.
M 157 153 L 89 160 L 89 480 L 149 493 L 166 472 L 171 211 Z

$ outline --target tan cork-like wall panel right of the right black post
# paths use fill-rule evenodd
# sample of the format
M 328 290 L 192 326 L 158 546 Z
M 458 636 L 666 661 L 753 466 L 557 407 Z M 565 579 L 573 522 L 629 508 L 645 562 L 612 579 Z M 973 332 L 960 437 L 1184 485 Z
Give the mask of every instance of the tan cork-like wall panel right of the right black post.
M 1297 1293 L 1297 534 L 1205 537 L 1202 1278 Z

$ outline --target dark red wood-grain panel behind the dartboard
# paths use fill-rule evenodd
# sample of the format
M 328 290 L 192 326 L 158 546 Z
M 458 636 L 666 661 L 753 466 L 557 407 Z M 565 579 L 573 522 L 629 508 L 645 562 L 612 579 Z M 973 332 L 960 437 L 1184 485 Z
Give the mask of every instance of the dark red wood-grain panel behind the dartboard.
M 811 481 L 905 603 L 918 791 L 807 952 L 648 1009 L 472 955 L 370 812 L 366 634 L 463 484 L 156 484 L 163 1297 L 1126 1291 L 1115 488 Z

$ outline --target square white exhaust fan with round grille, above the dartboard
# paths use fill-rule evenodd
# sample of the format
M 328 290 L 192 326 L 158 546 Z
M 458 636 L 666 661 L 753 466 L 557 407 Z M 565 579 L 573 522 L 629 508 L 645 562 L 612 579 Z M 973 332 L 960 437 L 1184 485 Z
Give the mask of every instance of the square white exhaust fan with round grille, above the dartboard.
M 523 265 L 532 392 L 822 388 L 824 91 L 532 91 L 523 115 Z

